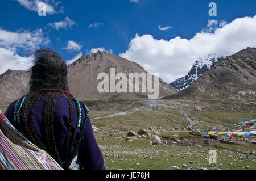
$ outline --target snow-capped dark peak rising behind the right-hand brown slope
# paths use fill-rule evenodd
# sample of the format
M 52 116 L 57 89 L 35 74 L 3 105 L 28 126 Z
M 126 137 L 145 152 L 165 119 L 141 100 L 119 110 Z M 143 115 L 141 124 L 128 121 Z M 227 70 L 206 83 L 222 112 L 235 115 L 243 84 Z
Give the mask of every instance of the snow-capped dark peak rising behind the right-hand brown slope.
M 174 82 L 170 83 L 170 85 L 179 90 L 185 89 L 189 85 L 191 85 L 191 83 L 195 82 L 196 79 L 199 78 L 201 74 L 205 73 L 205 71 L 212 68 L 218 61 L 221 61 L 227 56 L 231 56 L 232 54 L 234 53 L 214 53 L 208 54 L 207 56 L 200 56 L 199 58 L 197 58 L 191 70 L 189 70 L 188 74 L 185 75 L 185 77 L 176 79 Z

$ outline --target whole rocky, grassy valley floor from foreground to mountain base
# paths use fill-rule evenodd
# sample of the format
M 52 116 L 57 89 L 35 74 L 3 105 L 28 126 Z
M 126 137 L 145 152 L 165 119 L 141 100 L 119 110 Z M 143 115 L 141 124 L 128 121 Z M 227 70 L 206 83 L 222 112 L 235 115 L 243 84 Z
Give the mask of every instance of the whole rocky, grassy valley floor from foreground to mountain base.
M 255 113 L 209 111 L 191 100 L 139 101 L 118 111 L 90 111 L 108 169 L 256 169 L 255 136 L 205 138 L 212 125 L 230 128 Z M 191 104 L 191 103 L 189 103 Z M 196 104 L 195 102 L 193 104 Z M 209 105 L 209 104 L 208 104 Z M 115 105 L 118 107 L 118 104 Z M 113 108 L 115 108 L 113 106 Z M 209 163 L 215 150 L 217 162 Z

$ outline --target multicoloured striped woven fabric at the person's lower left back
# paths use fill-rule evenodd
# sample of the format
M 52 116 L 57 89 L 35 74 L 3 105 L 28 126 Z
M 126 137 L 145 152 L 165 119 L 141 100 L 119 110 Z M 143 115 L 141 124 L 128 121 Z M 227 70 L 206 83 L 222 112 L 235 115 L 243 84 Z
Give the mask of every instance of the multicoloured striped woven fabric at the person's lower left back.
M 17 131 L 0 112 L 0 169 L 63 170 L 46 151 L 38 148 Z M 72 169 L 76 169 L 75 161 Z

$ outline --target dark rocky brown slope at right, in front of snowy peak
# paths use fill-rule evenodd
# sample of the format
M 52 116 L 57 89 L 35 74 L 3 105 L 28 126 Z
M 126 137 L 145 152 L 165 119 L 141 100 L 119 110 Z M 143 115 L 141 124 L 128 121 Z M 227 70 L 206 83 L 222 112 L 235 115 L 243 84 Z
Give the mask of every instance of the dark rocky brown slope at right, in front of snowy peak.
M 246 48 L 226 57 L 201 75 L 176 97 L 216 100 L 246 100 L 255 103 L 256 48 Z

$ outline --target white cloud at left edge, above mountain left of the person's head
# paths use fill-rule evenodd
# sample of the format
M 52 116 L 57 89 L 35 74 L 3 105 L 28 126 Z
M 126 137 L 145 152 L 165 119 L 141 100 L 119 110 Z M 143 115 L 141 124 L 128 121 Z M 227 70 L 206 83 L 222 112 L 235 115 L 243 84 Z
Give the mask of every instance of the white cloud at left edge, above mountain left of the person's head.
M 17 52 L 30 53 L 48 43 L 49 39 L 43 36 L 41 29 L 32 32 L 28 30 L 11 32 L 0 28 L 0 74 L 7 69 L 28 69 L 31 66 L 32 56 L 22 57 Z

